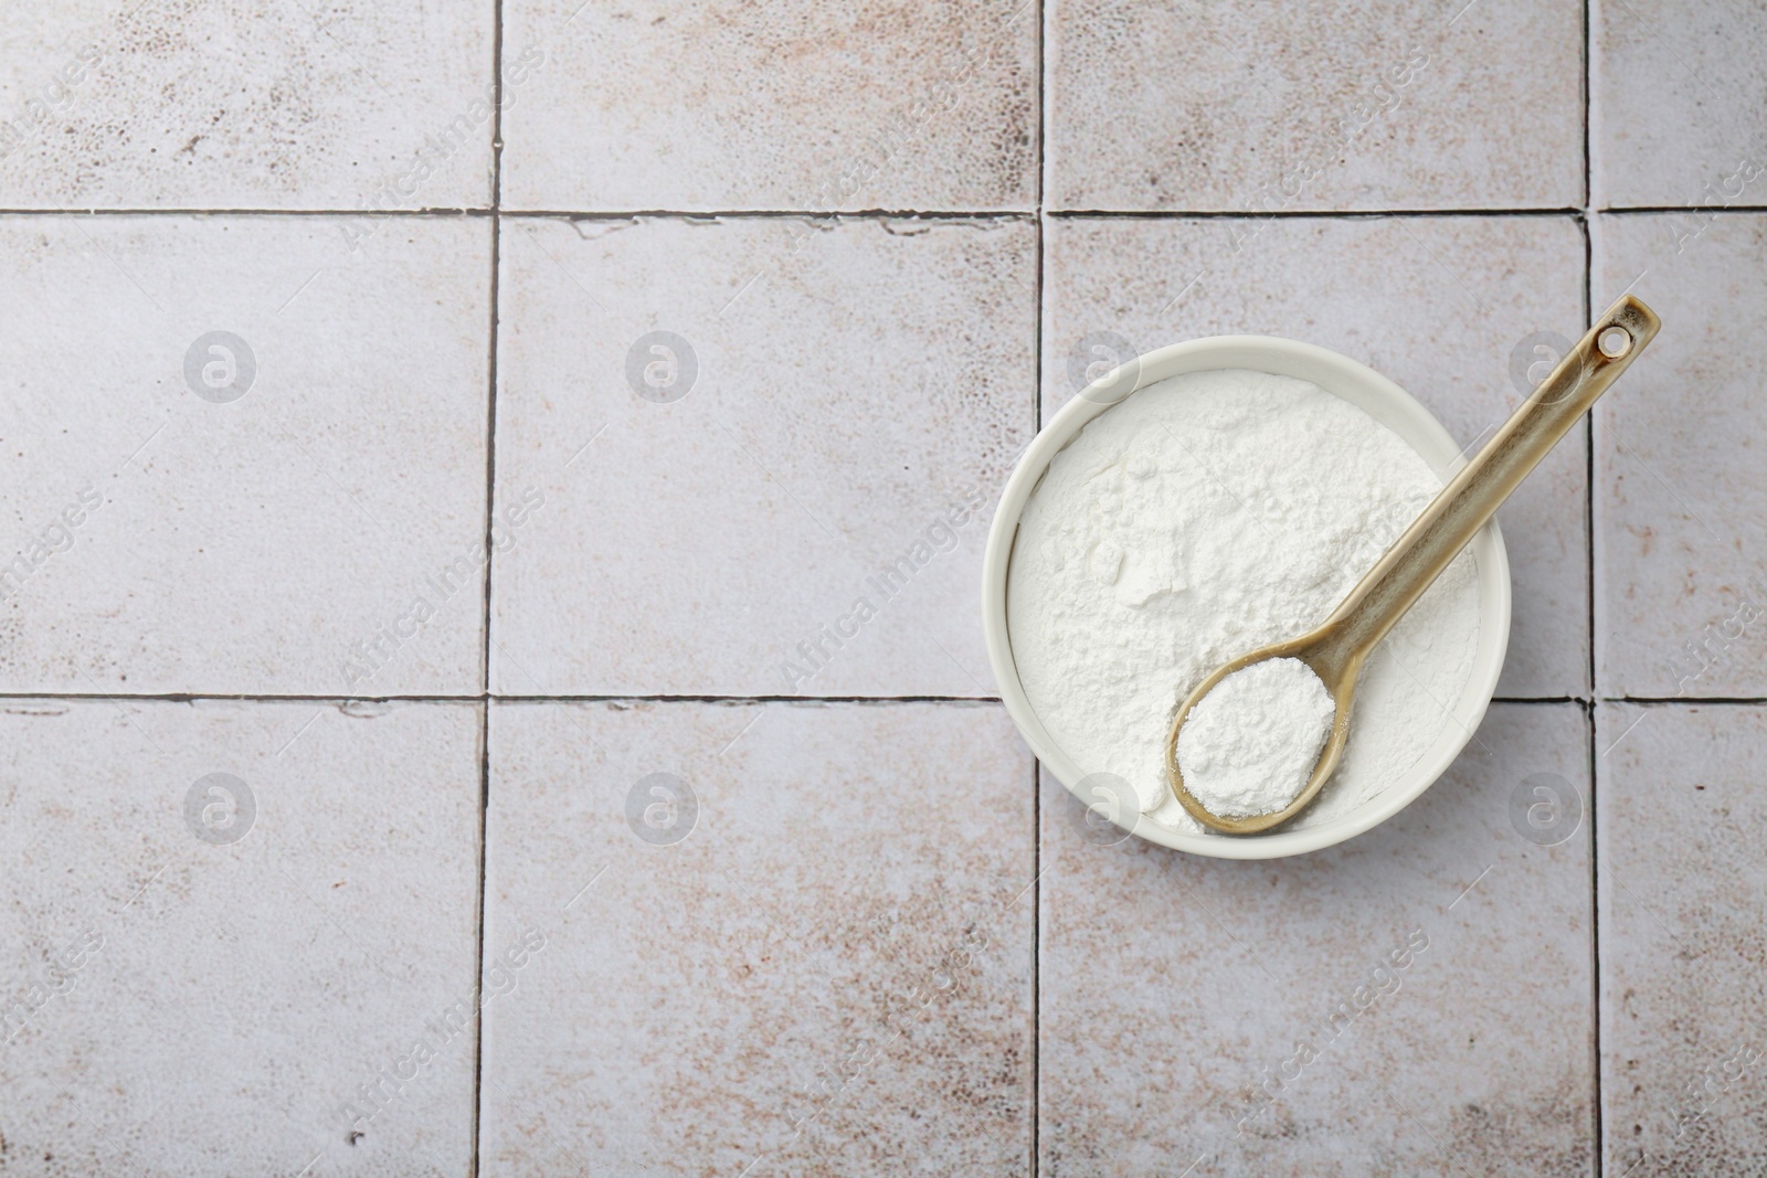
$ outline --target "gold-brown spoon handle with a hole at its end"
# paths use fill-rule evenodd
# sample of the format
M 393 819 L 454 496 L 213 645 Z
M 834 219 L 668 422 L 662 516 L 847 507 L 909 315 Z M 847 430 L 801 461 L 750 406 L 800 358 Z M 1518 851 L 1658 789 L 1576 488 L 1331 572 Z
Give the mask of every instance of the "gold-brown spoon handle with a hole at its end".
M 1422 597 L 1454 556 L 1497 514 L 1528 472 L 1569 433 L 1650 343 L 1663 321 L 1631 295 L 1606 309 L 1497 436 L 1449 479 L 1440 495 L 1357 581 L 1332 616 L 1329 655 L 1355 666 Z

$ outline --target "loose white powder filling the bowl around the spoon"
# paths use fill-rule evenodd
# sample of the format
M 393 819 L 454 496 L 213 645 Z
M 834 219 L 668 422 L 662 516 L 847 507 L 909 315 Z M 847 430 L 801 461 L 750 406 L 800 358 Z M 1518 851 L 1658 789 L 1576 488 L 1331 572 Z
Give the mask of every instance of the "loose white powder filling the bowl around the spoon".
M 1083 772 L 1202 832 L 1166 782 L 1179 703 L 1323 622 L 1440 489 L 1398 434 L 1302 380 L 1228 369 L 1134 392 L 1055 456 L 1020 517 L 1007 636 L 1032 708 Z M 1338 772 L 1285 828 L 1403 777 L 1456 722 L 1477 636 L 1461 553 L 1369 655 Z

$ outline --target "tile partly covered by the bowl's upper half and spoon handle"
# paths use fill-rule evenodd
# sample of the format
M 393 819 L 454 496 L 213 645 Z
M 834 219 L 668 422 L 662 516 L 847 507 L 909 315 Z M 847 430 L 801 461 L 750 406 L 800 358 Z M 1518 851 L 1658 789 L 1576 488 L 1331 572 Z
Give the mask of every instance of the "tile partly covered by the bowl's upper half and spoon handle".
M 1057 219 L 1046 249 L 1046 420 L 1110 336 L 1143 353 L 1269 334 L 1391 376 L 1470 449 L 1530 389 L 1514 374 L 1530 339 L 1583 325 L 1569 217 Z M 1573 433 L 1498 512 L 1514 585 L 1500 696 L 1589 692 L 1587 454 Z

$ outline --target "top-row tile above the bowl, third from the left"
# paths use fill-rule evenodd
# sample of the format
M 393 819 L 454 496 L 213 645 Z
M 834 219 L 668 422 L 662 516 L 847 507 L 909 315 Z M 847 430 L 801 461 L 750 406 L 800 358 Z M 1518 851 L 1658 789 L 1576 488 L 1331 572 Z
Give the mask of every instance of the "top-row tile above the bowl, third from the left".
M 1571 0 L 1050 0 L 1048 25 L 1051 208 L 1583 200 L 1583 12 Z

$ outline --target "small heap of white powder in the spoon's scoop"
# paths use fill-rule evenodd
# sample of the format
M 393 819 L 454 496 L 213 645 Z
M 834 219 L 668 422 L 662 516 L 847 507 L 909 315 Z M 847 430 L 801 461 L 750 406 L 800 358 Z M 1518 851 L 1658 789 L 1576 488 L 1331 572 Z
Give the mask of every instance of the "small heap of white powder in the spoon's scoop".
M 1210 814 L 1274 814 L 1313 777 L 1338 705 L 1301 659 L 1263 659 L 1209 689 L 1179 729 L 1184 788 Z

